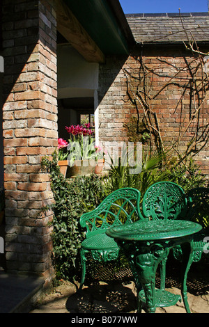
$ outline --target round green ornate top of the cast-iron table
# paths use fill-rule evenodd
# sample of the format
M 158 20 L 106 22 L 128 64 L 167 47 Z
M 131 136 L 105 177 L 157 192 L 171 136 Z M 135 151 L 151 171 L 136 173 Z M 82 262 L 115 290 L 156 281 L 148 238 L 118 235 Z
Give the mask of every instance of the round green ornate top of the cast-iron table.
M 120 225 L 107 230 L 106 234 L 114 239 L 130 241 L 154 241 L 185 237 L 201 230 L 201 225 L 192 221 L 155 220 L 137 221 L 129 225 Z

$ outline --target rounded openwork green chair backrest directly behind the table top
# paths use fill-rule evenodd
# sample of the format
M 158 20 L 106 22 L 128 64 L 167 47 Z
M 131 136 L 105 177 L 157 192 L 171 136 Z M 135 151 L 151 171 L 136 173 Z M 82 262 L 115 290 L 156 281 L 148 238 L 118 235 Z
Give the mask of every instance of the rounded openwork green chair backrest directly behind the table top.
M 149 220 L 184 217 L 187 210 L 185 192 L 173 182 L 157 182 L 144 194 L 142 210 Z

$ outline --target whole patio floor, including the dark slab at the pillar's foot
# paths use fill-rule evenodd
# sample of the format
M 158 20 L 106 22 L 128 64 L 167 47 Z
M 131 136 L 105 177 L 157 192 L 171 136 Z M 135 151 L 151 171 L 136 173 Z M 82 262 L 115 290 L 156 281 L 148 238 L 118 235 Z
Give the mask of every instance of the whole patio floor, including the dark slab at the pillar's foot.
M 156 280 L 156 286 L 158 281 Z M 83 287 L 61 282 L 51 293 L 42 293 L 43 280 L 29 276 L 8 275 L 0 271 L 0 313 L 135 313 L 134 282 L 97 282 Z M 180 283 L 173 272 L 167 274 L 167 289 L 180 294 Z M 209 313 L 208 270 L 189 271 L 188 302 L 191 312 Z M 36 305 L 31 306 L 31 303 Z M 144 312 L 144 311 L 143 311 Z M 185 313 L 183 303 L 157 308 L 156 313 Z

